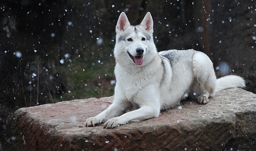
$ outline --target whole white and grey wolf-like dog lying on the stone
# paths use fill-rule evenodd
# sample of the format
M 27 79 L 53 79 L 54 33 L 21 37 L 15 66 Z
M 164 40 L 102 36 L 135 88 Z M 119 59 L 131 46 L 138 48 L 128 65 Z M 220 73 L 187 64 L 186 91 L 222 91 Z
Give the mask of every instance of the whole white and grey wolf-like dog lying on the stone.
M 216 91 L 245 87 L 240 76 L 217 79 L 210 58 L 202 52 L 189 49 L 158 53 L 150 12 L 137 26 L 131 26 L 124 12 L 120 14 L 114 57 L 113 104 L 97 116 L 88 118 L 86 127 L 105 122 L 103 128 L 114 128 L 158 117 L 161 110 L 180 105 L 180 101 L 187 97 L 204 105 Z

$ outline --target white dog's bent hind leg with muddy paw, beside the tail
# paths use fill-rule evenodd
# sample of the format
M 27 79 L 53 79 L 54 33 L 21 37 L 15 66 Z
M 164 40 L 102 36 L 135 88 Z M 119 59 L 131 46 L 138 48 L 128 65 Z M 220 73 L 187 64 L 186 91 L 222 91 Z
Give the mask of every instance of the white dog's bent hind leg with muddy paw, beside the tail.
M 210 58 L 202 53 L 197 52 L 193 56 L 192 69 L 194 76 L 194 88 L 199 95 L 197 101 L 199 104 L 206 104 L 209 96 L 215 95 L 216 76 Z

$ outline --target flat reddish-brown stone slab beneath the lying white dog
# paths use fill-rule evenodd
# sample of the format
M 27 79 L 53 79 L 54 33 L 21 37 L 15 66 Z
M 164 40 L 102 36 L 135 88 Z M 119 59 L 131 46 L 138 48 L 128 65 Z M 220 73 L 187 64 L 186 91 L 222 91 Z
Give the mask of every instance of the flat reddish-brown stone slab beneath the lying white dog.
M 20 108 L 13 121 L 15 150 L 256 150 L 256 94 L 230 88 L 207 105 L 184 101 L 158 118 L 114 129 L 84 127 L 112 97 Z

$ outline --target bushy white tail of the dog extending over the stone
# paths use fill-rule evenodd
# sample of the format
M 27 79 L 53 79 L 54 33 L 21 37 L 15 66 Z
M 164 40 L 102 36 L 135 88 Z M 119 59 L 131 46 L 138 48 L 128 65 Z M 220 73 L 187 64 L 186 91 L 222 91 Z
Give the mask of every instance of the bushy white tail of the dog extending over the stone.
M 236 75 L 223 76 L 217 79 L 216 91 L 221 91 L 226 88 L 245 87 L 245 81 L 242 77 Z

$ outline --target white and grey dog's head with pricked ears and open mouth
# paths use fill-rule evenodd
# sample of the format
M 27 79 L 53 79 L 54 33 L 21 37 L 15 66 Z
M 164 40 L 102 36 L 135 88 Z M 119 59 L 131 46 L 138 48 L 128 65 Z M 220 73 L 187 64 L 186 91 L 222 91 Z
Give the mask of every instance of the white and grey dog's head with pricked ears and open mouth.
M 153 41 L 153 19 L 147 12 L 142 22 L 131 26 L 127 16 L 122 12 L 116 25 L 116 45 L 114 56 L 118 63 L 124 65 L 146 65 L 157 53 Z

